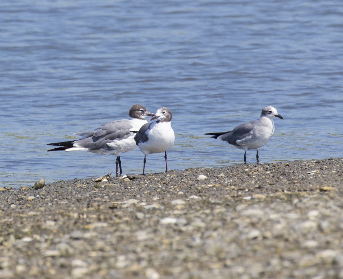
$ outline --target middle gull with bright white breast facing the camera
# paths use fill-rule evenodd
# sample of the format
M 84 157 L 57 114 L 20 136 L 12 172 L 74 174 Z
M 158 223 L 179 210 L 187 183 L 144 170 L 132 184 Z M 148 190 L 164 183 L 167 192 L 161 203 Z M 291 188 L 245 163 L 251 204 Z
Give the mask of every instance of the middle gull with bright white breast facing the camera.
M 146 163 L 146 155 L 150 153 L 160 153 L 164 151 L 164 159 L 167 165 L 167 149 L 173 146 L 175 135 L 173 128 L 171 128 L 171 112 L 167 108 L 160 108 L 157 110 L 151 120 L 157 119 L 155 122 L 144 124 L 137 132 L 134 139 L 139 149 L 144 154 L 143 160 L 143 175 Z

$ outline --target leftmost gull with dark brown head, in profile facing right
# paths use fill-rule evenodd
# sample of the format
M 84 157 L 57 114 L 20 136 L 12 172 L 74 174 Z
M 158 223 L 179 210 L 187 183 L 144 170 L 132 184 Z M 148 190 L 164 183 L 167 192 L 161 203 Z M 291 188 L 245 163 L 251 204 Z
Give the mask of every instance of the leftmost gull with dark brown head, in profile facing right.
M 116 174 L 118 175 L 118 164 L 121 174 L 120 155 L 137 147 L 134 140 L 134 133 L 130 132 L 130 130 L 139 130 L 142 125 L 147 123 L 145 117 L 154 115 L 154 113 L 151 113 L 141 105 L 133 105 L 129 111 L 129 119 L 108 122 L 92 132 L 74 133 L 75 135 L 81 136 L 81 138 L 75 141 L 49 143 L 48 145 L 61 147 L 55 147 L 48 151 L 84 150 L 100 155 L 116 155 Z

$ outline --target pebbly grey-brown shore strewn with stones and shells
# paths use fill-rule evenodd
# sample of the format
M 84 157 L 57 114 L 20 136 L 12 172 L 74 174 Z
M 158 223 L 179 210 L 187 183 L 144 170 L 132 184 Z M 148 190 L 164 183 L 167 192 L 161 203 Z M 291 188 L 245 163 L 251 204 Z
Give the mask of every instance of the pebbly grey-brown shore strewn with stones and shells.
M 343 278 L 342 158 L 0 190 L 0 279 Z

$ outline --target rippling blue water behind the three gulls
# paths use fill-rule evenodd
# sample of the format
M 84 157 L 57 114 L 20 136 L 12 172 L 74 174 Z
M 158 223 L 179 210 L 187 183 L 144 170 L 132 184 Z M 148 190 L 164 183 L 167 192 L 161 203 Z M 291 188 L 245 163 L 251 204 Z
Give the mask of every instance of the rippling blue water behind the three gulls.
M 285 120 L 261 163 L 341 157 L 342 18 L 341 0 L 1 1 L 1 186 L 115 171 L 114 156 L 46 144 L 136 103 L 173 113 L 170 170 L 243 163 L 242 150 L 203 134 L 267 105 Z M 138 148 L 121 159 L 142 172 Z M 147 157 L 146 172 L 163 170 L 163 154 Z

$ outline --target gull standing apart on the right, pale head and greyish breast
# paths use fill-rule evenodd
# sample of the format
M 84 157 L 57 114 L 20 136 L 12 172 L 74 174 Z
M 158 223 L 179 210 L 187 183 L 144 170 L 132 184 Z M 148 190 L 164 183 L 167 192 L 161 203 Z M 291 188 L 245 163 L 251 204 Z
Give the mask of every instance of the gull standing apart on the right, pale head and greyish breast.
M 232 131 L 205 135 L 213 135 L 213 138 L 228 142 L 239 149 L 244 149 L 244 162 L 247 161 L 247 150 L 256 149 L 256 160 L 258 162 L 258 149 L 268 143 L 274 133 L 274 117 L 283 119 L 274 107 L 265 107 L 262 109 L 261 117 L 258 120 L 240 124 Z

